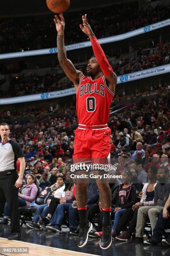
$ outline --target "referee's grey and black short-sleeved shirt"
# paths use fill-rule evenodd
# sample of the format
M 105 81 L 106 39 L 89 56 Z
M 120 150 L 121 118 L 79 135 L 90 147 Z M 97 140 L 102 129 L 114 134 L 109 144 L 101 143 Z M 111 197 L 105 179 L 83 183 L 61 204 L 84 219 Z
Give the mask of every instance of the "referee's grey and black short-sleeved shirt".
M 23 151 L 16 141 L 9 139 L 7 142 L 0 142 L 0 172 L 17 168 L 17 159 L 23 157 Z

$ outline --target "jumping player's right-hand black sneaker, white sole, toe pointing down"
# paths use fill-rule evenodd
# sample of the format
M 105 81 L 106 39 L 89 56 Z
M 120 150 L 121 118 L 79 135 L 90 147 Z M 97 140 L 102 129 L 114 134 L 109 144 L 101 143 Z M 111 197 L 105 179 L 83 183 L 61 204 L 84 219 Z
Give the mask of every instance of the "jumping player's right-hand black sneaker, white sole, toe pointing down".
M 100 248 L 107 249 L 112 243 L 112 225 L 102 226 L 102 236 L 100 238 Z

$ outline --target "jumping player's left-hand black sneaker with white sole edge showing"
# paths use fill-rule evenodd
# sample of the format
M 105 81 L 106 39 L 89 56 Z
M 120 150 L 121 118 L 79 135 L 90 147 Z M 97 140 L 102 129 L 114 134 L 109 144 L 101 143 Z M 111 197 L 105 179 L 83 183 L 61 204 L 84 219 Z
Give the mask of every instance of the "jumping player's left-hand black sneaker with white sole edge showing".
M 88 240 L 88 234 L 92 230 L 92 223 L 87 222 L 86 225 L 80 225 L 80 230 L 79 230 L 79 237 L 78 237 L 78 247 L 83 247 L 86 245 L 87 240 Z

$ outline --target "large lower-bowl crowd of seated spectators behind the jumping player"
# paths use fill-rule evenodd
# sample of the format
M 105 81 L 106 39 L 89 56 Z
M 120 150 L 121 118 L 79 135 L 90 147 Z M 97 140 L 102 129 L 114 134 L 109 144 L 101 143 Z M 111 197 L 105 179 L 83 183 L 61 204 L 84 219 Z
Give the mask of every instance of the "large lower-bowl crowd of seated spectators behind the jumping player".
M 72 130 L 69 134 L 66 131 L 70 125 L 76 123 L 77 115 L 73 109 L 71 112 L 65 111 L 64 118 L 51 118 L 48 121 L 35 124 L 31 129 L 29 128 L 29 123 L 26 122 L 24 124 L 15 123 L 15 125 L 10 125 L 11 138 L 20 143 L 24 152 L 26 160 L 25 185 L 31 186 L 32 191 L 34 191 L 34 196 L 24 195 L 22 190 L 20 191 L 19 197 L 22 198 L 22 200 L 19 200 L 20 206 L 30 205 L 30 203 L 31 205 L 36 205 L 35 197 L 38 190 L 35 189 L 35 185 L 32 185 L 33 182 L 42 191 L 47 187 L 50 188 L 51 192 L 55 190 L 54 197 L 50 198 L 51 201 L 49 200 L 48 203 L 40 206 L 37 205 L 37 210 L 32 220 L 33 223 L 27 223 L 28 228 L 60 232 L 62 230 L 64 212 L 68 211 L 70 234 L 78 234 L 76 221 L 78 213 L 75 201 L 76 185 L 70 178 L 70 167 L 66 164 L 68 159 L 72 159 L 75 130 Z M 168 200 L 167 193 L 169 192 L 170 194 L 170 186 L 169 182 L 167 182 L 165 188 L 163 187 L 166 190 L 166 200 L 165 198 L 158 200 L 158 198 L 163 197 L 162 194 L 159 195 L 158 181 L 163 182 L 165 179 L 166 181 L 170 179 L 170 91 L 167 90 L 161 96 L 158 95 L 151 100 L 145 98 L 138 104 L 133 104 L 124 113 L 114 115 L 110 120 L 109 127 L 111 129 L 111 163 L 117 164 L 115 174 L 122 175 L 124 184 L 132 187 L 131 191 L 135 191 L 135 194 L 130 192 L 132 195 L 130 194 L 128 202 L 126 202 L 127 207 L 125 205 L 124 207 L 120 203 L 120 195 L 116 192 L 119 186 L 120 189 L 122 188 L 122 180 L 115 179 L 114 182 L 110 180 L 112 200 L 114 199 L 112 201 L 112 219 L 115 218 L 112 236 L 114 238 L 117 237 L 117 239 L 129 239 L 130 237 L 127 234 L 120 235 L 120 226 L 122 227 L 123 223 L 127 223 L 127 212 L 125 210 L 130 211 L 128 216 L 135 218 L 135 223 L 137 214 L 144 218 L 142 210 L 138 210 L 140 213 L 136 212 L 135 215 L 134 210 L 132 210 L 132 207 L 137 210 L 140 206 L 136 195 L 141 189 L 143 189 L 143 193 L 146 193 L 146 187 L 152 187 L 154 184 L 154 189 L 158 190 L 155 196 L 155 190 L 153 190 L 152 198 L 149 197 L 149 201 L 147 201 L 145 194 L 140 200 L 141 206 L 149 207 L 145 214 L 148 214 L 150 218 L 152 229 L 156 224 L 156 219 L 153 218 L 154 211 L 156 210 L 157 215 L 163 211 L 163 206 Z M 21 128 L 25 129 L 25 132 L 21 133 Z M 94 211 L 94 207 L 97 210 Z M 87 209 L 89 209 L 88 218 L 91 221 L 94 213 L 97 215 L 102 214 L 100 208 L 101 202 L 98 189 L 96 184 L 90 183 L 88 185 Z M 143 210 L 145 210 L 145 207 Z M 9 217 L 7 205 L 5 205 L 4 211 L 5 216 L 1 223 L 7 224 Z M 91 235 L 99 237 L 102 234 L 101 216 L 97 221 L 98 227 L 94 226 L 95 229 L 92 230 Z M 143 239 L 143 230 L 139 228 L 140 223 L 137 222 L 135 225 L 134 222 L 132 223 L 130 230 L 134 231 L 136 227 L 137 238 L 139 240 Z

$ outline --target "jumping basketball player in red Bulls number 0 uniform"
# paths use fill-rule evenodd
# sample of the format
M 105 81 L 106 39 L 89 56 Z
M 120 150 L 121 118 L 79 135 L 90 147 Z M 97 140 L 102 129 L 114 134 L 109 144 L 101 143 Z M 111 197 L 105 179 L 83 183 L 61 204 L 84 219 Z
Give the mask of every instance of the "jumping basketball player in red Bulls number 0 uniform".
M 110 103 L 114 97 L 117 83 L 116 74 L 108 63 L 98 43 L 87 15 L 82 16 L 80 29 L 89 36 L 95 57 L 87 64 L 87 76 L 76 70 L 67 59 L 64 44 L 65 20 L 62 14 L 55 15 L 57 29 L 57 55 L 62 69 L 74 83 L 77 97 L 77 116 L 79 126 L 75 131 L 74 159 L 107 159 L 110 154 L 110 128 L 107 126 L 110 115 Z M 97 181 L 96 181 L 97 182 Z M 112 243 L 112 226 L 110 223 L 111 191 L 109 184 L 97 182 L 103 210 L 103 227 L 100 247 L 107 249 Z M 78 246 L 87 243 L 92 224 L 87 220 L 87 183 L 77 183 L 77 209 L 80 217 Z

